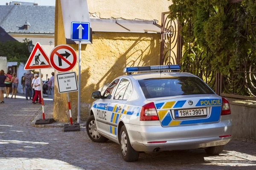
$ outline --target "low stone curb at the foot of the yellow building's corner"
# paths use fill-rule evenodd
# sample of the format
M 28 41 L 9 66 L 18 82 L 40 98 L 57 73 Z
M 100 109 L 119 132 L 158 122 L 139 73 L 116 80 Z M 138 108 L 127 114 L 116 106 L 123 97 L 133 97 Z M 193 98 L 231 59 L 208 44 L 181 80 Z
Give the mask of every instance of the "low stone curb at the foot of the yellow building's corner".
M 62 122 L 53 122 L 52 124 L 46 124 L 46 125 L 35 125 L 36 120 L 43 119 L 41 108 L 35 113 L 34 120 L 31 122 L 31 126 L 33 127 L 64 127 L 65 124 L 70 123 L 62 123 Z M 85 127 L 86 122 L 81 122 L 80 127 Z

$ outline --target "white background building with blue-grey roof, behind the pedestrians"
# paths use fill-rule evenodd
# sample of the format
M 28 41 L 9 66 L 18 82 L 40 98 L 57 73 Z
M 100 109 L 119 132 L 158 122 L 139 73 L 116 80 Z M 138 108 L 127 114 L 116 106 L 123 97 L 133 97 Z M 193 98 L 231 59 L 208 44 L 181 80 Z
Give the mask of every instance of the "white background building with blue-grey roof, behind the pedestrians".
M 34 45 L 40 42 L 49 56 L 54 48 L 55 6 L 38 6 L 37 3 L 24 3 L 24 5 L 23 3 L 11 3 L 11 5 L 6 3 L 6 6 L 0 6 L 0 26 L 19 42 L 23 42 L 25 38 L 32 40 Z M 21 63 L 17 68 L 19 81 L 26 72 L 24 64 Z M 15 65 L 17 62 L 7 63 L 9 68 L 15 68 Z M 53 71 L 53 69 L 42 69 L 43 80 L 47 79 L 46 74 L 50 78 Z M 22 86 L 19 83 L 18 92 L 22 92 L 21 89 Z

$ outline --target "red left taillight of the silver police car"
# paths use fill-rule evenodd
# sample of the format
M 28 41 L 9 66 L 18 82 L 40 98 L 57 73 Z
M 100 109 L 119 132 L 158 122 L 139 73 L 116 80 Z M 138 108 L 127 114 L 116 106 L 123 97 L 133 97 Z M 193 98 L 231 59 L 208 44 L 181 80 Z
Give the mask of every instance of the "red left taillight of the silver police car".
M 140 112 L 140 121 L 159 120 L 157 109 L 153 102 L 144 105 Z

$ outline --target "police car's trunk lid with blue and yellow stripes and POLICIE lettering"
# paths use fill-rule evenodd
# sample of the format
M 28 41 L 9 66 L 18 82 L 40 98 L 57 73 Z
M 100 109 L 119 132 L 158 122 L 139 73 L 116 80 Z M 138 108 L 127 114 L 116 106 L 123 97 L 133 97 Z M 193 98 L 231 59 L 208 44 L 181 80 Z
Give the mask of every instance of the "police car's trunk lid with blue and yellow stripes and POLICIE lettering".
M 221 97 L 187 95 L 148 99 L 154 102 L 163 127 L 219 122 Z

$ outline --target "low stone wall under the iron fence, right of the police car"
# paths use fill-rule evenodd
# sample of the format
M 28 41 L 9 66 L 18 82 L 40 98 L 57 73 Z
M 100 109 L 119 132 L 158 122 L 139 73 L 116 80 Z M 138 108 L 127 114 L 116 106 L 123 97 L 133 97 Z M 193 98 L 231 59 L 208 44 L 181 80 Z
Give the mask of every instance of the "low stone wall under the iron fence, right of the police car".
M 256 101 L 228 100 L 233 122 L 233 139 L 256 143 Z

